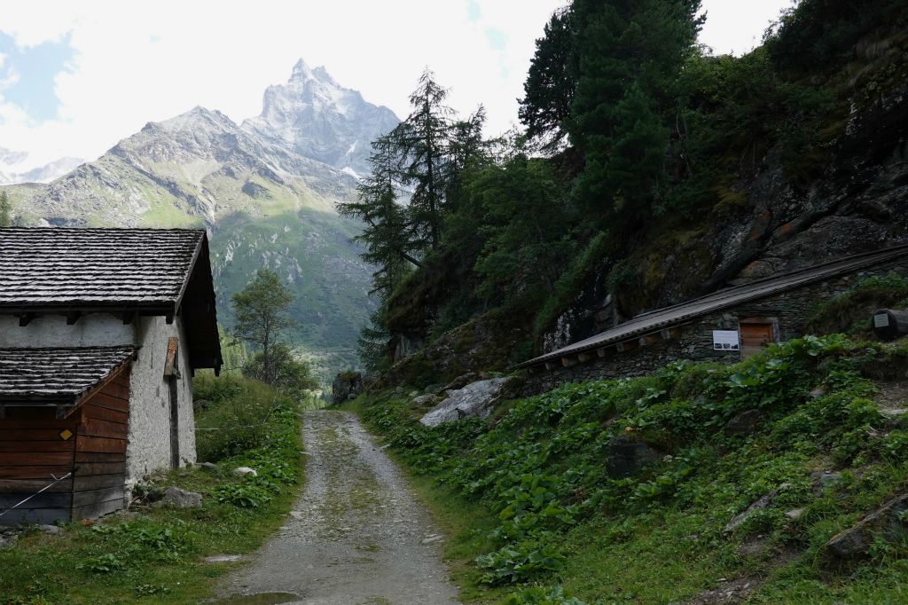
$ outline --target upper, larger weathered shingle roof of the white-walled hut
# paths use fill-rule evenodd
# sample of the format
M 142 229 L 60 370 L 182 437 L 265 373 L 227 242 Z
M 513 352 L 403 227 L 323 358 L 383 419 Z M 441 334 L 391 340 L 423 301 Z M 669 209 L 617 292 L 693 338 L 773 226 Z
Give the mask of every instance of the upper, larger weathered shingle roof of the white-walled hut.
M 201 229 L 0 229 L 0 309 L 171 308 Z

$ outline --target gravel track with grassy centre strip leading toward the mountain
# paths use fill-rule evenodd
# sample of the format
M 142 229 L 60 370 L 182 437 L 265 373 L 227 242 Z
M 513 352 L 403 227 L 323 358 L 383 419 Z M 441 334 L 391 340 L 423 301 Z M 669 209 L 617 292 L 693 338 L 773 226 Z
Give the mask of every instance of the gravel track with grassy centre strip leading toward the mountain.
M 439 560 L 441 537 L 356 416 L 305 412 L 302 425 L 309 455 L 301 498 L 252 564 L 228 577 L 221 591 L 236 596 L 222 602 L 288 592 L 296 597 L 281 602 L 457 603 Z

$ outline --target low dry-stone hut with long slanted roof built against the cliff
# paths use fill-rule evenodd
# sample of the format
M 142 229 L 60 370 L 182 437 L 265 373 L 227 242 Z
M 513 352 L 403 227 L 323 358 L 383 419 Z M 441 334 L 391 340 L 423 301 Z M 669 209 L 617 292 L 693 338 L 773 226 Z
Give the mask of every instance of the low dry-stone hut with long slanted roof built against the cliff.
M 804 335 L 818 302 L 885 273 L 908 275 L 908 244 L 855 254 L 646 312 L 518 365 L 526 392 L 564 382 L 635 376 L 668 362 L 737 362 L 771 342 Z

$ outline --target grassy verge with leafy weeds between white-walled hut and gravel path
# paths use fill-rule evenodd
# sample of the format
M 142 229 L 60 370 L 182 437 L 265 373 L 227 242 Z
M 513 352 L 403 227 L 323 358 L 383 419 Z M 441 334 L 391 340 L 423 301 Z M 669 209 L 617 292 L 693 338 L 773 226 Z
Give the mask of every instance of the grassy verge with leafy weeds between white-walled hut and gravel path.
M 299 406 L 258 383 L 219 380 L 220 394 L 206 391 L 211 399 L 201 415 L 229 422 L 222 412 L 239 401 L 268 406 L 259 441 L 244 441 L 250 449 L 219 461 L 216 470 L 180 469 L 136 490 L 149 500 L 170 486 L 198 491 L 202 506 L 139 504 L 91 525 L 66 523 L 57 535 L 25 531 L 0 550 L 0 603 L 196 603 L 237 565 L 208 564 L 205 557 L 252 552 L 281 526 L 303 479 Z M 238 466 L 259 474 L 235 476 Z

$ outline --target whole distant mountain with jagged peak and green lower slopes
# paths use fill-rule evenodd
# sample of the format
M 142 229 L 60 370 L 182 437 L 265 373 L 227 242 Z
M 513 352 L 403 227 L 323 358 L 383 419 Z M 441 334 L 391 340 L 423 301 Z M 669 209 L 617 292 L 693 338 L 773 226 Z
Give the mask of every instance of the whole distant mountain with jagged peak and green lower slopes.
M 52 183 L 6 189 L 26 225 L 207 228 L 219 319 L 231 322 L 230 297 L 257 269 L 275 271 L 296 295 L 295 344 L 327 378 L 356 363 L 373 306 L 371 269 L 351 243 L 360 225 L 334 211 L 356 194 L 356 178 L 341 168 L 363 169 L 370 141 L 397 118 L 302 63 L 290 84 L 269 91 L 265 112 L 246 126 L 195 107 L 146 124 Z M 332 155 L 330 142 L 360 152 Z

